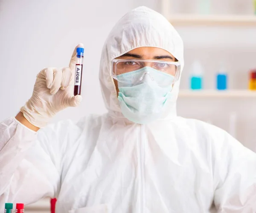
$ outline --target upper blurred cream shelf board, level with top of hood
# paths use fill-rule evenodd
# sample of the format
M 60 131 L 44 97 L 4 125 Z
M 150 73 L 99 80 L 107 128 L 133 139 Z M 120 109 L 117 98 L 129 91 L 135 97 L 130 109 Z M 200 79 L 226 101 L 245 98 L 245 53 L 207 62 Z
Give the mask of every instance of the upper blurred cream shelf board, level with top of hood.
M 256 26 L 256 15 L 177 14 L 169 17 L 174 26 Z

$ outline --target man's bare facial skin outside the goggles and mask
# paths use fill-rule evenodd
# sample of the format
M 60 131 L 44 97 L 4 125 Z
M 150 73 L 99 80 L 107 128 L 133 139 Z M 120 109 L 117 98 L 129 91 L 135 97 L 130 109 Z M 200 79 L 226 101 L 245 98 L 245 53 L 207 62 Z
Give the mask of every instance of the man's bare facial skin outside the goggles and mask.
M 148 60 L 166 60 L 166 61 L 176 61 L 175 57 L 164 49 L 157 47 L 138 47 L 119 56 L 120 59 L 148 59 Z M 116 79 L 113 79 L 116 92 L 118 94 L 119 89 Z

